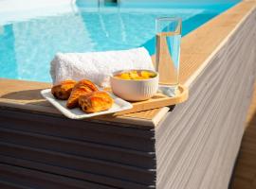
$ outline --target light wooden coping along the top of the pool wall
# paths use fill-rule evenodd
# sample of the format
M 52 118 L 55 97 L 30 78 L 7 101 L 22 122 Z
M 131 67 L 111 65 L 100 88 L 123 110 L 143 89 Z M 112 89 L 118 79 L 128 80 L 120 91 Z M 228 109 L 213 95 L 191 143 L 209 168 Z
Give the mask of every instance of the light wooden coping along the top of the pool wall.
M 231 33 L 243 19 L 247 18 L 255 5 L 255 1 L 243 1 L 182 38 L 180 83 L 190 87 L 192 81 L 200 75 L 209 63 L 212 55 L 229 39 Z M 46 114 L 60 114 L 46 103 L 39 94 L 40 90 L 50 86 L 47 83 L 2 78 L 0 86 L 0 104 L 2 107 Z M 8 94 L 5 92 L 8 92 Z M 156 123 L 153 120 L 161 120 L 167 113 L 165 110 L 166 108 L 121 116 L 101 116 L 96 119 L 136 124 L 138 127 L 155 127 L 158 122 Z

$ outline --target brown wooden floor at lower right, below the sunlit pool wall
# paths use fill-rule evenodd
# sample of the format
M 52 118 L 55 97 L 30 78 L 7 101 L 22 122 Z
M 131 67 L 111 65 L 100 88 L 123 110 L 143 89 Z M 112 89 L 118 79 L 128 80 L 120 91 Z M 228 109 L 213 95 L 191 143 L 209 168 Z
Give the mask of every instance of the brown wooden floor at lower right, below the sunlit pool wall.
M 256 85 L 247 114 L 246 131 L 243 137 L 233 178 L 229 189 L 256 188 Z

